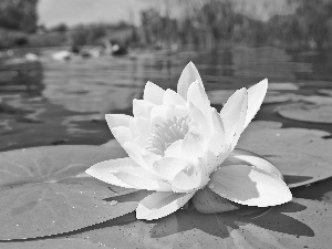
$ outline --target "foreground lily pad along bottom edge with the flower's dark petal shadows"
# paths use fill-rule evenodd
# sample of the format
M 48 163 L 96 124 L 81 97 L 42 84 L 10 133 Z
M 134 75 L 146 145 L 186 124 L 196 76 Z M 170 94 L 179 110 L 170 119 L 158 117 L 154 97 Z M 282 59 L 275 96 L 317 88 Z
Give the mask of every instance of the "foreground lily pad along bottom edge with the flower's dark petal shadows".
M 71 237 L 111 248 L 329 248 L 331 226 L 332 205 L 294 198 L 249 215 L 203 215 L 189 208 L 154 221 L 111 225 Z

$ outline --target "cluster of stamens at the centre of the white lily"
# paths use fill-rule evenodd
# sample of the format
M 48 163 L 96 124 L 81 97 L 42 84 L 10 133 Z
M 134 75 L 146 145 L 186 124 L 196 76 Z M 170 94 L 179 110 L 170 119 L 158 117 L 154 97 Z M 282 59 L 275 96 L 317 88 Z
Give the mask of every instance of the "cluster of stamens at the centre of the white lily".
M 188 116 L 174 117 L 163 125 L 156 124 L 147 138 L 146 151 L 164 156 L 164 152 L 178 139 L 183 139 L 189 131 Z

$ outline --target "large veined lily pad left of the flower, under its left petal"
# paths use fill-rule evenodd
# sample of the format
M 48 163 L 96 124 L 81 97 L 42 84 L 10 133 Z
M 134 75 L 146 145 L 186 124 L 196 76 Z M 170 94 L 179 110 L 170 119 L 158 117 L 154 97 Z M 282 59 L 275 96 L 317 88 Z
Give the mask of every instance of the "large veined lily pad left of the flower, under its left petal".
M 0 154 L 0 240 L 43 237 L 135 210 L 133 191 L 86 175 L 91 165 L 126 154 L 121 147 L 44 146 Z M 143 197 L 142 197 L 143 198 Z

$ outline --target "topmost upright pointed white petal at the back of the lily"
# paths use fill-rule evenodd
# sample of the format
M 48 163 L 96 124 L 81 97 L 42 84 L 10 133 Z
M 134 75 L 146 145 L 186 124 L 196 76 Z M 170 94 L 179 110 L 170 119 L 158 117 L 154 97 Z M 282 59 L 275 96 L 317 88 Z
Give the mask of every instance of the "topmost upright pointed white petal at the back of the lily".
M 194 81 L 201 83 L 198 70 L 193 62 L 189 62 L 184 69 L 177 83 L 177 93 L 183 96 L 184 100 L 187 100 L 188 87 Z

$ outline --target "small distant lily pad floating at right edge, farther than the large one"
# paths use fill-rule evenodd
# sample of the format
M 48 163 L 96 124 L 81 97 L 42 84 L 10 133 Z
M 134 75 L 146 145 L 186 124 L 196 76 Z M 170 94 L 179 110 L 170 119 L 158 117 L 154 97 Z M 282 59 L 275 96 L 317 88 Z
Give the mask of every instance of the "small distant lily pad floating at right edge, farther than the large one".
M 330 98 L 330 97 L 328 97 Z M 309 101 L 309 98 L 308 98 Z M 276 111 L 283 117 L 312 123 L 332 123 L 332 100 L 330 104 L 294 103 L 282 105 Z

